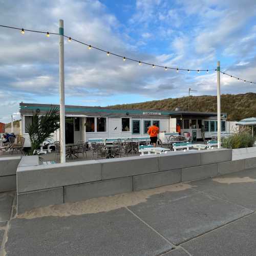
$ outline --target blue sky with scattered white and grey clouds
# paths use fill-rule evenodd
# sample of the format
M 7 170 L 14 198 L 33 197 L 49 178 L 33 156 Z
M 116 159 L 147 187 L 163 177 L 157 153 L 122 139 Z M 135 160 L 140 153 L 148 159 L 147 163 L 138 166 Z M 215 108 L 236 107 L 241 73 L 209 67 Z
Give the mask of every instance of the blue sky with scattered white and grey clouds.
M 256 81 L 253 0 L 0 0 L 0 24 L 58 31 L 122 56 L 186 69 L 222 70 Z M 0 122 L 18 103 L 58 103 L 58 36 L 0 28 Z M 106 106 L 194 95 L 216 95 L 216 73 L 155 68 L 65 41 L 66 104 Z M 222 75 L 222 93 L 255 86 Z M 18 116 L 17 116 L 18 118 Z

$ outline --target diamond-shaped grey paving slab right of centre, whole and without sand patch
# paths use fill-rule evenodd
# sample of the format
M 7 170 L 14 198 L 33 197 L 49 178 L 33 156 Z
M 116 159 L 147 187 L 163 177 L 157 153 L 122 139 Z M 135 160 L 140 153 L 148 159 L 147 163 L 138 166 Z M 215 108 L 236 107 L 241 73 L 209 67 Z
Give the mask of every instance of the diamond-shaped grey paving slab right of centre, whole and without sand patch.
M 128 208 L 176 245 L 253 212 L 191 188 L 154 195 Z

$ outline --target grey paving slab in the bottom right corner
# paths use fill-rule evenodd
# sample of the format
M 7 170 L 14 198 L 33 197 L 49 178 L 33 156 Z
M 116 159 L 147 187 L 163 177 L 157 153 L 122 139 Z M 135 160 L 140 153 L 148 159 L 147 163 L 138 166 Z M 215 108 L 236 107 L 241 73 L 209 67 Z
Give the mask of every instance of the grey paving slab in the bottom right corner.
M 255 255 L 256 214 L 182 244 L 192 255 Z

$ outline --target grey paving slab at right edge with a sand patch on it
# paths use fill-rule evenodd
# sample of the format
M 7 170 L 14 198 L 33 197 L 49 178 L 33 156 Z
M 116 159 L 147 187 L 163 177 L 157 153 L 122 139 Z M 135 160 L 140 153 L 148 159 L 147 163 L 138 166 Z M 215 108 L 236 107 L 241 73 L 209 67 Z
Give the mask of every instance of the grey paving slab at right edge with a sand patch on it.
M 189 183 L 195 189 L 256 210 L 256 169 Z

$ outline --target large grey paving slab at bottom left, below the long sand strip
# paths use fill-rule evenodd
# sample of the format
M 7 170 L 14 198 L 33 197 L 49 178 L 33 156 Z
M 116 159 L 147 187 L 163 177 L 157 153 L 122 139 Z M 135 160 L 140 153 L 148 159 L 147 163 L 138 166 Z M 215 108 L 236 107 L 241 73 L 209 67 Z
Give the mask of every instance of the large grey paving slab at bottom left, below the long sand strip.
M 7 256 L 160 255 L 172 249 L 125 208 L 70 217 L 12 219 Z

